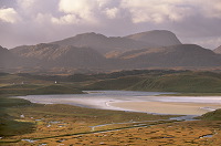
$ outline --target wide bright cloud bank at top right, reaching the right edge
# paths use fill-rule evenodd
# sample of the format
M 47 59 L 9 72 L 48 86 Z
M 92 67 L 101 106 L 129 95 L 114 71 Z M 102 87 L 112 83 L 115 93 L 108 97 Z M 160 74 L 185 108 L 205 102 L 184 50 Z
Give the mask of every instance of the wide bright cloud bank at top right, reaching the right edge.
M 221 19 L 220 0 L 122 0 L 134 23 L 166 21 L 181 22 L 189 17 Z

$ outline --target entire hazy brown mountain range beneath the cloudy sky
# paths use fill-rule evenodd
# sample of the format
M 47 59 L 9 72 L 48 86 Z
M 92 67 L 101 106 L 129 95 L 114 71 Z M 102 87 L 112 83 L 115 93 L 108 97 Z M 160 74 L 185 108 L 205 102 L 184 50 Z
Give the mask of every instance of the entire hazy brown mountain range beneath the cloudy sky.
M 221 49 L 182 44 L 175 33 L 154 30 L 127 36 L 83 33 L 13 49 L 0 48 L 1 71 L 106 72 L 149 67 L 221 66 Z

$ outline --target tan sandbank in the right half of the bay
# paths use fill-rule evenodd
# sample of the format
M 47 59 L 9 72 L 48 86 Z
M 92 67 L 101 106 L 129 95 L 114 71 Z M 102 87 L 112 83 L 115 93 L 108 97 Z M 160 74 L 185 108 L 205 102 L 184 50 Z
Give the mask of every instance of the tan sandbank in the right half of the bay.
M 136 112 L 177 114 L 177 115 L 202 115 L 211 109 L 221 108 L 220 104 L 203 103 L 175 103 L 175 102 L 113 102 L 109 106 L 120 107 Z

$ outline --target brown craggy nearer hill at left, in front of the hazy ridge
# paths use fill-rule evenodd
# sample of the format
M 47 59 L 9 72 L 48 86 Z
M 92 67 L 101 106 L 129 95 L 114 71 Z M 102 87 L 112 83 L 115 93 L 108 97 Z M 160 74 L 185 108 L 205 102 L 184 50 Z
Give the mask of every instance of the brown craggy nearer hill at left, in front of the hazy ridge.
M 25 64 L 27 66 L 99 67 L 106 64 L 106 59 L 90 48 L 60 46 L 57 44 L 41 43 L 19 46 L 10 51 L 29 60 Z

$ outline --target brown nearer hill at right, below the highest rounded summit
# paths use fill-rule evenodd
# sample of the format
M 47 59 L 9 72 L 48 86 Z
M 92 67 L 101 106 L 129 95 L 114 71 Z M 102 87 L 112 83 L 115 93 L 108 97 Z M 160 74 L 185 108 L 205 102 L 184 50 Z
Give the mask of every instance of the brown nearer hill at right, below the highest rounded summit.
M 123 60 L 123 66 L 128 69 L 147 66 L 208 67 L 221 64 L 221 55 L 196 44 L 133 50 L 117 55 L 116 59 Z

